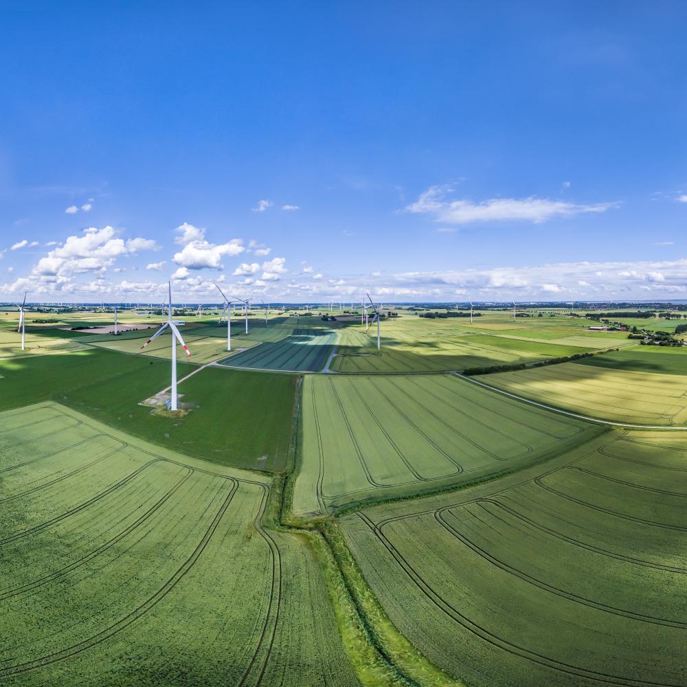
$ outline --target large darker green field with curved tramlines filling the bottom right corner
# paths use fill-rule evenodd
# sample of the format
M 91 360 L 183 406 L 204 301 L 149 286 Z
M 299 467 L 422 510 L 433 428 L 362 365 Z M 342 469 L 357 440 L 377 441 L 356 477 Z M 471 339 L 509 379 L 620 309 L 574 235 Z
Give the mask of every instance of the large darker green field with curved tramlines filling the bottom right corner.
M 396 627 L 471 687 L 684 685 L 686 499 L 684 432 L 611 430 L 341 527 Z

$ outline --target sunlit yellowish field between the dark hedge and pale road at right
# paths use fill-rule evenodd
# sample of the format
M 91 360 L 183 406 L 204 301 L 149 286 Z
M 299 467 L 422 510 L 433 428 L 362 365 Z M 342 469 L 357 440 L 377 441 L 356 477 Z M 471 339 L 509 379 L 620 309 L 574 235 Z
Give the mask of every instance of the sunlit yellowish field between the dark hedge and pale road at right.
M 659 359 L 662 352 L 657 352 L 654 359 Z M 675 361 L 679 354 L 687 355 L 677 351 L 677 354 L 668 354 L 669 359 Z M 629 360 L 636 361 L 640 355 L 631 356 Z M 649 354 L 647 360 L 652 355 Z M 538 403 L 600 420 L 635 425 L 687 426 L 684 375 L 644 372 L 632 369 L 631 364 L 626 369 L 620 354 L 616 354 L 613 360 L 617 368 L 602 362 L 591 365 L 561 363 L 531 370 L 486 374 L 475 379 Z

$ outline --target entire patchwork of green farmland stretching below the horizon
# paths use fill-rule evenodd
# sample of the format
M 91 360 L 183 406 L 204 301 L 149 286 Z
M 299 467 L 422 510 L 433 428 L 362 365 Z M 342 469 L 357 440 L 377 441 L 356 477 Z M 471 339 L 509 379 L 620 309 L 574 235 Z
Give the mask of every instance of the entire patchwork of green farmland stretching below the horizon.
M 687 352 L 567 314 L 401 313 L 381 354 L 376 328 L 306 315 L 236 317 L 227 354 L 187 316 L 176 415 L 168 335 L 140 348 L 159 318 L 27 318 L 21 354 L 0 316 L 0 677 L 687 685 L 687 432 L 480 385 L 682 426 Z

